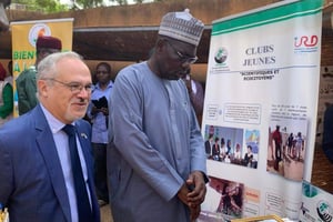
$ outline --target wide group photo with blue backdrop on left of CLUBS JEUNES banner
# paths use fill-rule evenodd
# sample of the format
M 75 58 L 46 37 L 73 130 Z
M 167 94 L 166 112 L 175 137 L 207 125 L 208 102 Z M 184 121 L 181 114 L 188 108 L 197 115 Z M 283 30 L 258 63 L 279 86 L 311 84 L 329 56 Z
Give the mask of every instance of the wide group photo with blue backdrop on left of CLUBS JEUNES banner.
M 208 160 L 246 168 L 258 168 L 259 130 L 205 125 Z

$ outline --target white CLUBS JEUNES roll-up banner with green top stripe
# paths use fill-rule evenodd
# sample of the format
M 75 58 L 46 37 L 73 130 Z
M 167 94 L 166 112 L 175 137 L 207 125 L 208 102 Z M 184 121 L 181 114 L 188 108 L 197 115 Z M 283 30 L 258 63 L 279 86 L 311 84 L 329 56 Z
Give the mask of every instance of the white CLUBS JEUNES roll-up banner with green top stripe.
M 315 142 L 322 3 L 281 1 L 213 21 L 200 221 L 299 219 Z

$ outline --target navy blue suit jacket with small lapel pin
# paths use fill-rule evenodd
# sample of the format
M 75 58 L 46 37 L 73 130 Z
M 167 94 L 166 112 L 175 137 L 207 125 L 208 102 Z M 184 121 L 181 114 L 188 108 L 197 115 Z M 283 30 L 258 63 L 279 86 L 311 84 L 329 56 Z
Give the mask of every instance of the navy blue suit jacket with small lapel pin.
M 88 167 L 94 222 L 99 222 L 91 128 L 83 120 L 75 124 Z M 60 160 L 40 105 L 0 128 L 0 203 L 9 209 L 11 222 L 71 222 Z

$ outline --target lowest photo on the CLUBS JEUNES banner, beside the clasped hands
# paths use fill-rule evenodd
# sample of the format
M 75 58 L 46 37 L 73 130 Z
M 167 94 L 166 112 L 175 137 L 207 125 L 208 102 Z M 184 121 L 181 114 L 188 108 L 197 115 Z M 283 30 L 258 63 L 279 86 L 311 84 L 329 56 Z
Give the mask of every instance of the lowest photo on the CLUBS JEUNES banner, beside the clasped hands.
M 221 221 L 239 219 L 242 216 L 244 184 L 209 176 L 206 196 L 198 221 Z

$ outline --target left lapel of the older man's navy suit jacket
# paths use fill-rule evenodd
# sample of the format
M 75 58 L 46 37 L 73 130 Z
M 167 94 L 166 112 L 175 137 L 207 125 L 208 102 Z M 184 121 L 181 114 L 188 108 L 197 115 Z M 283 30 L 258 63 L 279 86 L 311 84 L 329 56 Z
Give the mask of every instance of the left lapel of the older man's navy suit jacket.
M 62 174 L 62 169 L 57 152 L 57 148 L 53 141 L 52 132 L 49 128 L 49 124 L 46 120 L 46 117 L 38 105 L 34 109 L 34 120 L 36 120 L 36 130 L 37 130 L 37 143 L 39 150 L 44 158 L 44 163 L 50 174 L 51 183 L 54 190 L 54 193 L 58 198 L 59 205 L 61 206 L 63 214 L 65 215 L 67 221 L 71 221 L 70 204 L 68 200 L 68 193 L 65 189 L 64 178 Z

